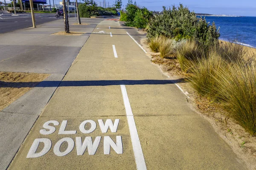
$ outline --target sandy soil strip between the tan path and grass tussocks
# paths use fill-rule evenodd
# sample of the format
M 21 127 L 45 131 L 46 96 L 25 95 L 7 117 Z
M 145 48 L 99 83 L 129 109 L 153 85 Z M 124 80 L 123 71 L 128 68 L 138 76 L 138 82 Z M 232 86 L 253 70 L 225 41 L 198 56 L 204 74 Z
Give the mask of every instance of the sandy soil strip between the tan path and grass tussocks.
M 161 58 L 159 53 L 151 51 L 146 39 L 141 40 L 141 44 L 147 51 L 147 55 L 151 58 L 151 61 L 157 64 L 170 79 L 184 79 L 189 76 L 181 71 L 180 65 L 175 57 L 167 59 Z M 245 48 L 251 53 L 256 54 L 255 48 Z M 216 133 L 230 145 L 238 158 L 245 162 L 248 169 L 256 170 L 256 137 L 250 136 L 243 127 L 237 125 L 233 119 L 228 118 L 225 116 L 225 113 L 222 113 L 217 107 L 209 103 L 206 99 L 198 96 L 190 87 L 189 82 L 182 82 L 179 83 L 179 85 L 183 91 L 189 93 L 192 110 L 196 111 L 204 119 L 207 119 Z

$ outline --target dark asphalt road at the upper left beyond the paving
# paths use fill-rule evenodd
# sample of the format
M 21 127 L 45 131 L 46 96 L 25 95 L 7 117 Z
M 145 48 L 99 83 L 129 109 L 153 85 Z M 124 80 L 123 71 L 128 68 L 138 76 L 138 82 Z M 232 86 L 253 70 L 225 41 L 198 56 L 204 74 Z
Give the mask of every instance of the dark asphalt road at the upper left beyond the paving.
M 70 14 L 70 18 L 74 18 L 75 14 Z M 62 17 L 63 18 L 63 17 Z M 55 18 L 55 14 L 36 14 L 36 25 L 47 23 L 53 20 L 59 20 Z M 0 13 L 0 33 L 6 33 L 9 31 L 15 31 L 17 29 L 31 27 L 32 17 L 30 13 L 12 15 L 11 13 Z

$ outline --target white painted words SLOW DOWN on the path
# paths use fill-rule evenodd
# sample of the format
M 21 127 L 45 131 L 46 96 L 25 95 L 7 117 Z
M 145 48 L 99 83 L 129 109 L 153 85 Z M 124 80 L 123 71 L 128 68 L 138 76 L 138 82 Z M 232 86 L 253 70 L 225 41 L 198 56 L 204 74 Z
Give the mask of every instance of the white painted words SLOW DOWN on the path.
M 113 123 L 111 119 L 107 119 L 104 124 L 103 120 L 99 119 L 98 123 L 102 133 L 107 133 L 108 129 L 110 129 L 112 133 L 116 133 L 119 125 L 119 120 L 120 119 L 115 119 Z M 56 128 L 53 125 L 58 126 L 59 122 L 56 120 L 49 120 L 44 123 L 43 125 L 44 129 L 41 129 L 39 132 L 45 136 L 55 133 Z M 87 127 L 89 125 L 90 128 L 86 129 L 85 128 L 86 125 Z M 61 123 L 60 129 L 58 131 L 58 134 L 67 134 L 67 135 L 76 134 L 76 130 L 65 130 L 66 127 L 67 127 L 67 120 L 63 120 Z M 93 120 L 85 120 L 79 125 L 79 130 L 81 131 L 81 133 L 88 134 L 88 133 L 92 133 L 96 129 L 96 127 L 97 127 L 96 122 L 94 122 Z M 78 156 L 83 155 L 86 148 L 89 155 L 94 155 L 99 147 L 99 143 L 101 142 L 101 140 L 102 140 L 101 136 L 96 136 L 96 138 L 94 139 L 94 142 L 91 136 L 86 136 L 84 141 L 82 141 L 82 137 L 76 137 L 75 139 L 76 143 L 75 143 L 75 141 L 72 138 L 65 137 L 55 143 L 53 147 L 53 152 L 56 156 L 66 156 L 74 149 L 76 144 L 76 152 Z M 67 148 L 65 151 L 61 152 L 60 150 L 61 144 L 63 144 L 64 142 L 67 142 Z M 44 143 L 44 147 L 43 149 L 38 151 L 38 147 L 40 143 Z M 116 143 L 111 139 L 110 136 L 104 136 L 103 146 L 104 146 L 105 155 L 110 154 L 111 147 L 117 154 L 122 154 L 123 153 L 122 136 L 116 136 Z M 51 139 L 48 139 L 48 138 L 35 139 L 26 157 L 38 158 L 40 156 L 44 156 L 47 152 L 49 152 L 51 147 L 52 147 Z

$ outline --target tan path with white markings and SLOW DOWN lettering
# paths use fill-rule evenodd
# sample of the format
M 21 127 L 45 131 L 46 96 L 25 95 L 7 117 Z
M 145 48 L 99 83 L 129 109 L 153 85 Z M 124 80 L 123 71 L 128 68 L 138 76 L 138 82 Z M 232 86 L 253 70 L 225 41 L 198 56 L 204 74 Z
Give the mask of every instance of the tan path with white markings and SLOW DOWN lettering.
M 246 169 L 177 81 L 119 22 L 102 21 L 9 169 Z

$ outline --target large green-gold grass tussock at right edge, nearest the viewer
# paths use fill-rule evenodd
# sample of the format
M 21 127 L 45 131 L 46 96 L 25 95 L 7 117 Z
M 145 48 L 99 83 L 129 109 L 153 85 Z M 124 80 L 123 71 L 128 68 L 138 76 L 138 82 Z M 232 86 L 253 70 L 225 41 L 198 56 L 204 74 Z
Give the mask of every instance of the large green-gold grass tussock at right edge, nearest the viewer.
M 256 136 L 256 65 L 236 61 L 230 71 L 222 66 L 216 79 L 221 108 L 239 125 Z

